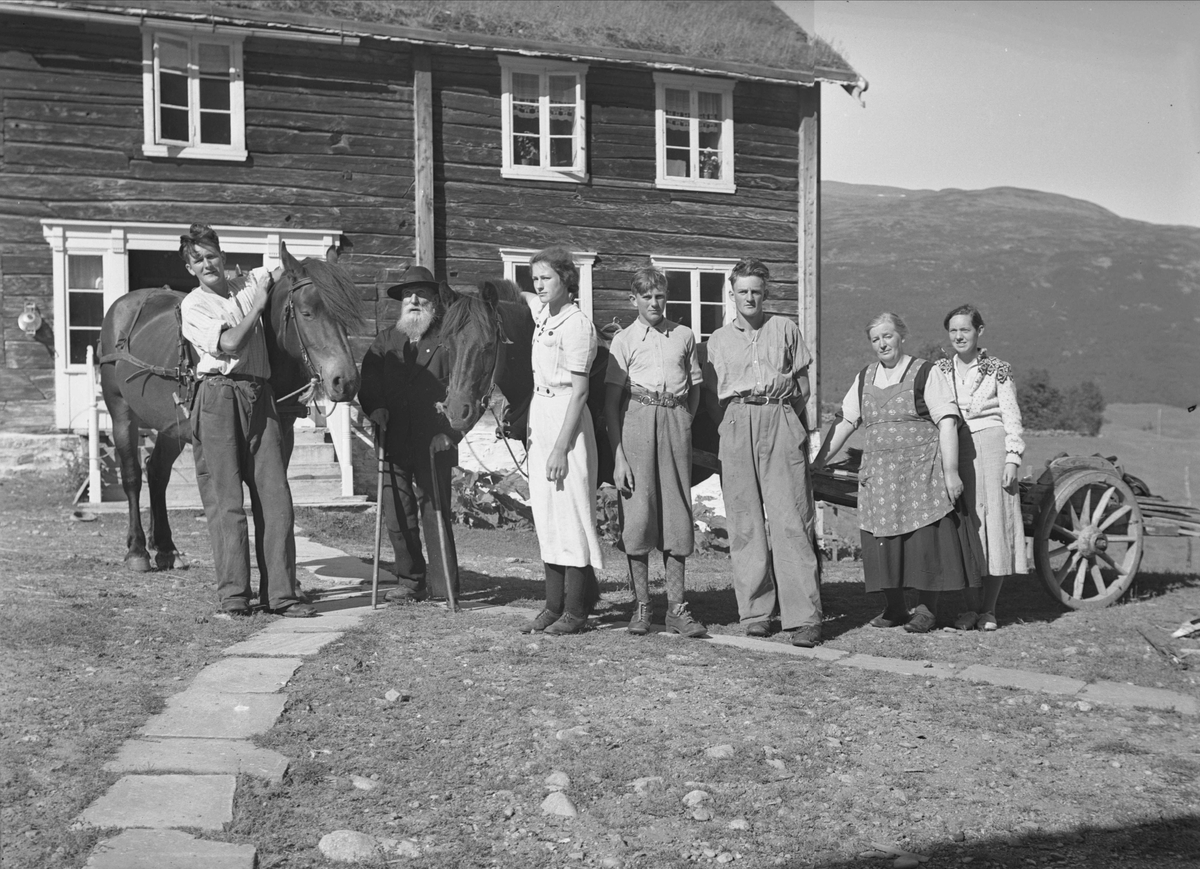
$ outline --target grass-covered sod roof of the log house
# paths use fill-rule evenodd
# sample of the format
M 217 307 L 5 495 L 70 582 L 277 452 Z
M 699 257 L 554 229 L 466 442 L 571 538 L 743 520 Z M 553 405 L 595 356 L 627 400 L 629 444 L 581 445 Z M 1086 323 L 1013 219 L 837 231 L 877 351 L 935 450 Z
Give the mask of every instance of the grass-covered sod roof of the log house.
M 204 6 L 853 73 L 827 42 L 770 0 L 220 0 Z

